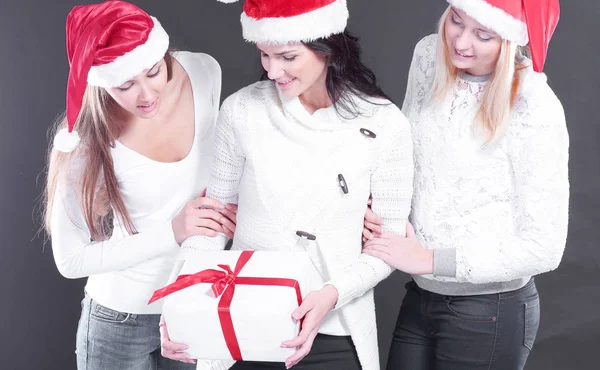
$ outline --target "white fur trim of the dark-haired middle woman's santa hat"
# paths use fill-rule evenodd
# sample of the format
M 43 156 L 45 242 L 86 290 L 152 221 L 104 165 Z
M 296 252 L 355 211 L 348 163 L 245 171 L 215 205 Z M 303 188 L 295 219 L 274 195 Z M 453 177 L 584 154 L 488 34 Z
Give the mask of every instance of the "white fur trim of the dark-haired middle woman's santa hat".
M 287 44 L 314 41 L 341 33 L 348 22 L 346 0 L 336 0 L 322 8 L 293 17 L 256 20 L 242 13 L 244 39 L 254 43 Z

